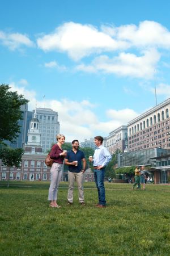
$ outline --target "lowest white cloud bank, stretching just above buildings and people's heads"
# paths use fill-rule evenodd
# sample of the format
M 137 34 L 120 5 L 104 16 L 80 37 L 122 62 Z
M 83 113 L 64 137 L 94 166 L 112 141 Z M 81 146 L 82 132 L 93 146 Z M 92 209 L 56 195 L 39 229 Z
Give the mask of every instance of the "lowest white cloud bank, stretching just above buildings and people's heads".
M 78 139 L 80 142 L 84 139 L 94 137 L 96 135 L 108 136 L 109 132 L 126 125 L 126 123 L 136 117 L 138 114 L 129 109 L 125 110 L 108 110 L 106 116 L 108 121 L 101 121 L 97 118 L 94 108 L 95 105 L 88 100 L 77 102 L 68 99 L 45 99 L 37 100 L 36 92 L 20 87 L 14 82 L 9 85 L 12 91 L 18 91 L 29 100 L 28 108 L 30 111 L 35 106 L 42 108 L 51 108 L 58 112 L 58 121 L 60 123 L 60 132 L 66 136 L 66 141 Z

